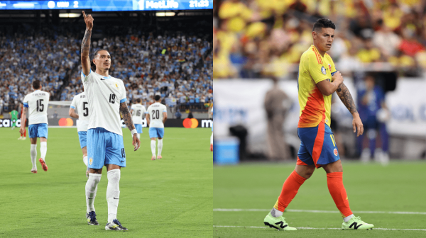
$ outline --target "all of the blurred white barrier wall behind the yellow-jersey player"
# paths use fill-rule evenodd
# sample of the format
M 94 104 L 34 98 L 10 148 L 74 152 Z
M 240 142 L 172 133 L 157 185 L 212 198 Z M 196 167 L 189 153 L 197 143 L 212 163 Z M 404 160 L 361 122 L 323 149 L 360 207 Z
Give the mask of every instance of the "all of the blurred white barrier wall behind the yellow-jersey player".
M 356 101 L 352 80 L 344 83 Z M 271 89 L 268 79 L 230 79 L 214 81 L 214 136 L 229 136 L 229 127 L 244 125 L 249 130 L 248 148 L 251 152 L 266 151 L 266 113 L 263 100 Z M 297 81 L 282 81 L 280 88 L 293 100 L 284 129 L 288 143 L 298 149 L 297 123 L 299 103 Z M 426 138 L 426 81 L 423 79 L 398 79 L 397 89 L 386 95 L 392 118 L 388 122 L 390 135 Z M 352 117 L 336 94 L 332 114 L 340 126 L 351 128 Z M 420 151 L 422 148 L 417 148 Z

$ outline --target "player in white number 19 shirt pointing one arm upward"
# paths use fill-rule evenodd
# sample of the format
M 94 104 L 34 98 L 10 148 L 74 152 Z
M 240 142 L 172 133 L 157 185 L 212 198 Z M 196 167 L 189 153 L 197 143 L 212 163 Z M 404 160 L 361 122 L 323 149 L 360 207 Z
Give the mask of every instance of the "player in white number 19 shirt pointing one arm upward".
M 93 18 L 83 11 L 86 32 L 82 40 L 82 81 L 87 96 L 89 125 L 87 127 L 87 157 L 89 157 L 89 179 L 86 183 L 87 223 L 99 225 L 94 211 L 94 198 L 97 184 L 101 180 L 102 168 L 107 167 L 107 230 L 127 230 L 116 219 L 120 198 L 121 167 L 126 166 L 123 132 L 121 130 L 120 113 L 127 128 L 131 130 L 133 146 L 136 151 L 141 142 L 131 120 L 126 103 L 126 89 L 123 81 L 109 75 L 111 56 L 107 50 L 97 50 L 92 59 L 93 71 L 89 60 L 90 37 L 92 35 Z

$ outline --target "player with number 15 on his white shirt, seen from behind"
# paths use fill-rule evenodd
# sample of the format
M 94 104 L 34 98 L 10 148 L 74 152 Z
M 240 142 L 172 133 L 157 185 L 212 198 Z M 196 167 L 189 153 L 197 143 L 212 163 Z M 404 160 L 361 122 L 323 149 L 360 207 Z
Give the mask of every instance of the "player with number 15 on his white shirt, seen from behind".
M 37 163 L 35 158 L 37 157 L 37 137 L 40 137 L 40 154 L 41 158 L 38 161 L 44 171 L 48 171 L 48 166 L 45 163 L 46 152 L 48 152 L 48 104 L 50 94 L 45 91 L 41 91 L 40 80 L 35 79 L 33 81 L 33 92 L 23 98 L 23 112 L 21 115 L 21 134 L 25 132 L 25 120 L 26 114 L 29 108 L 30 117 L 28 118 L 28 132 L 30 134 L 31 141 L 31 163 L 33 163 L 33 169 L 31 173 L 37 174 Z

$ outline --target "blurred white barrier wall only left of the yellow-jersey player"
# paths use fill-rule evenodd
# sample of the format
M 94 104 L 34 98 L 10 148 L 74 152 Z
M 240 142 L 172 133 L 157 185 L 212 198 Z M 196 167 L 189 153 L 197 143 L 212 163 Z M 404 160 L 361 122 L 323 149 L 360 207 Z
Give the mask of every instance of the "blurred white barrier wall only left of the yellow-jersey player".
M 249 130 L 248 147 L 251 152 L 266 149 L 266 113 L 263 100 L 272 81 L 218 80 L 214 81 L 214 137 L 229 135 L 229 127 L 244 125 Z M 285 130 L 297 133 L 299 104 L 297 103 L 297 82 L 285 81 L 280 87 L 293 99 L 293 106 L 285 122 Z

